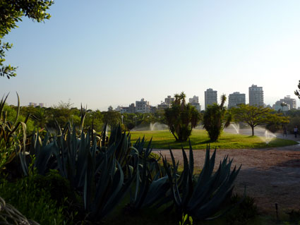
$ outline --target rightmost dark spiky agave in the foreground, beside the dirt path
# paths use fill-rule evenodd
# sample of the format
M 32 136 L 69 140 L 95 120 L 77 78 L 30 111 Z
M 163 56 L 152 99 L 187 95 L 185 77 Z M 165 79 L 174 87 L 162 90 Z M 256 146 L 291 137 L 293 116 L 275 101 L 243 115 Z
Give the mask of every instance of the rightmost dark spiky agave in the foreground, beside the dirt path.
M 219 210 L 224 200 L 232 193 L 233 183 L 239 174 L 239 169 L 232 166 L 232 159 L 224 157 L 219 168 L 213 174 L 215 167 L 215 152 L 210 157 L 210 146 L 208 145 L 205 155 L 205 164 L 198 175 L 196 182 L 193 182 L 193 150 L 189 149 L 189 162 L 184 148 L 184 171 L 181 176 L 177 174 L 178 162 L 175 162 L 172 150 L 172 166 L 167 163 L 166 157 L 163 159 L 164 169 L 166 169 L 170 186 L 172 186 L 172 196 L 176 212 L 188 214 L 197 219 L 212 219 Z M 220 216 L 219 214 L 218 216 Z M 216 217 L 218 217 L 216 216 Z

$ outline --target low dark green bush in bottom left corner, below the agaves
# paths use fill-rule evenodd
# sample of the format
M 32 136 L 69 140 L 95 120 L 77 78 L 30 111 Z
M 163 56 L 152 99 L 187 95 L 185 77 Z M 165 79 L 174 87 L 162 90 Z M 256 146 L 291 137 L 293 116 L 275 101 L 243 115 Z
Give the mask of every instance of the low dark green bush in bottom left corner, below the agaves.
M 4 181 L 0 185 L 0 196 L 25 217 L 40 224 L 71 224 L 64 215 L 69 190 L 64 178 L 50 173 L 28 176 L 14 183 Z

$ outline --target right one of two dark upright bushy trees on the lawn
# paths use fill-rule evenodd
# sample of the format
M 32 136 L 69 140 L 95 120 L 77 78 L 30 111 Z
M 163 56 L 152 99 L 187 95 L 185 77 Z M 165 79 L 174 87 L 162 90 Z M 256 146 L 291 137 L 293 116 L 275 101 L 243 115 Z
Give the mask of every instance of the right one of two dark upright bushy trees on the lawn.
M 232 121 L 232 116 L 227 113 L 227 109 L 224 107 L 226 99 L 226 95 L 222 95 L 220 105 L 209 105 L 204 112 L 203 128 L 208 131 L 211 142 L 217 141 L 224 128 L 227 128 Z

